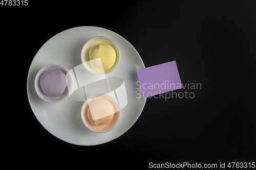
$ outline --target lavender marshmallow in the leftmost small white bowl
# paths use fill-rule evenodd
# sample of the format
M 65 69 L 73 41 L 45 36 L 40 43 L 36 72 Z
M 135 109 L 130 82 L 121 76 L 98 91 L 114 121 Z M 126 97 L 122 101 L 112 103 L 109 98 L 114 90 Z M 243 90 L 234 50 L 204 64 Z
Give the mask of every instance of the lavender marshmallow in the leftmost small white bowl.
M 63 71 L 58 69 L 47 70 L 40 79 L 42 91 L 50 96 L 61 95 L 67 87 L 67 78 Z

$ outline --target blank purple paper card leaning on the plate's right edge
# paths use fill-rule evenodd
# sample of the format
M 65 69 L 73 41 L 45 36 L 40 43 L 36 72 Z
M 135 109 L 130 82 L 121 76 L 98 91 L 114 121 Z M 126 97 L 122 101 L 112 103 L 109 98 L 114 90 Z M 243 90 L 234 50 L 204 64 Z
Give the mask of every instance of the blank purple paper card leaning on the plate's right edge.
M 182 88 L 176 61 L 137 70 L 143 98 Z

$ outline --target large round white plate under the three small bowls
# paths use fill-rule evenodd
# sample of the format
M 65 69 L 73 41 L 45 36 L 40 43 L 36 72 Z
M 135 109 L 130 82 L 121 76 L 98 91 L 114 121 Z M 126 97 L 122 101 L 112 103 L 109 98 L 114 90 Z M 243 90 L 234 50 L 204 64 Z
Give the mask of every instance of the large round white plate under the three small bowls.
M 95 36 L 111 38 L 119 46 L 120 64 L 106 77 L 122 78 L 125 83 L 127 105 L 121 110 L 118 125 L 106 133 L 95 133 L 84 126 L 81 119 L 83 102 L 70 98 L 60 103 L 48 103 L 39 98 L 34 80 L 37 72 L 48 64 L 60 64 L 69 70 L 81 64 L 84 43 Z M 120 35 L 99 27 L 76 27 L 49 39 L 35 55 L 28 73 L 27 92 L 32 111 L 40 124 L 57 138 L 78 145 L 96 145 L 111 141 L 129 130 L 140 116 L 146 98 L 136 94 L 137 69 L 145 68 L 135 48 Z M 95 90 L 95 89 L 94 89 Z M 141 92 L 139 92 L 141 94 Z

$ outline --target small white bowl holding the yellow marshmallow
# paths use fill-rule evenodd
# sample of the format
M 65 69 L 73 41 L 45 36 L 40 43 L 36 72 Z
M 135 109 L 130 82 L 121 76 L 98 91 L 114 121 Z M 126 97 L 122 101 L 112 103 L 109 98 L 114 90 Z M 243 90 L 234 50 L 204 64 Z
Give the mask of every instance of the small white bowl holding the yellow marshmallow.
M 110 69 L 96 70 L 91 66 L 91 64 L 89 62 L 90 61 L 89 51 L 92 46 L 98 45 L 98 44 L 103 44 L 103 43 L 109 44 L 114 48 L 114 50 L 116 51 L 116 62 L 114 64 L 114 66 L 111 67 Z M 81 61 L 83 63 L 83 66 L 86 67 L 86 69 L 88 71 L 92 72 L 93 74 L 96 74 L 96 75 L 109 74 L 110 72 L 114 71 L 117 68 L 117 66 L 120 62 L 120 51 L 119 51 L 117 44 L 112 39 L 110 39 L 108 37 L 104 37 L 104 36 L 93 37 L 90 40 L 88 40 L 82 47 Z

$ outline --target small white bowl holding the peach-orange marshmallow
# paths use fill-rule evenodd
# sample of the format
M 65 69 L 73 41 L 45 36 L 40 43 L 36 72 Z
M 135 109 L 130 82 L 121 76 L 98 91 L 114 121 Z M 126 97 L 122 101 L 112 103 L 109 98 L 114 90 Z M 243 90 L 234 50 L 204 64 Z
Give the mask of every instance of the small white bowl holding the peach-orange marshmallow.
M 97 100 L 99 98 L 101 99 L 103 98 L 110 101 L 114 106 L 116 113 L 114 114 L 113 120 L 109 124 L 102 125 L 102 126 L 95 126 L 93 123 L 90 122 L 88 118 L 88 114 L 87 114 L 88 108 L 89 108 L 88 101 L 90 100 L 90 103 L 92 103 L 94 100 Z M 86 102 L 83 103 L 81 108 L 81 117 L 82 117 L 83 124 L 86 125 L 86 127 L 91 131 L 97 132 L 97 133 L 104 133 L 104 132 L 111 131 L 113 128 L 116 127 L 117 123 L 119 122 L 120 116 L 121 116 L 121 109 L 119 104 L 111 96 L 107 94 L 96 94 L 91 96 L 86 100 Z

